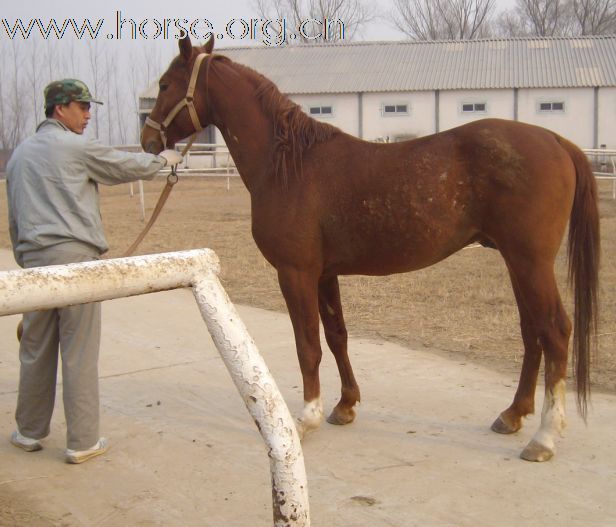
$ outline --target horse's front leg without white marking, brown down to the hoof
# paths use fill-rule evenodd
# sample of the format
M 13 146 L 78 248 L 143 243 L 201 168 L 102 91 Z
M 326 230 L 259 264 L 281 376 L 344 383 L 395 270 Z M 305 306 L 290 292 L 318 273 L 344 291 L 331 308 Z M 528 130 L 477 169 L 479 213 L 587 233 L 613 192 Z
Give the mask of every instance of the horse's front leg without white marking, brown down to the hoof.
M 342 383 L 340 401 L 327 421 L 335 425 L 345 425 L 355 419 L 353 407 L 359 401 L 359 386 L 355 381 L 347 353 L 348 336 L 342 315 L 337 276 L 322 278 L 319 282 L 319 312 L 323 322 L 325 339 L 336 358 Z

